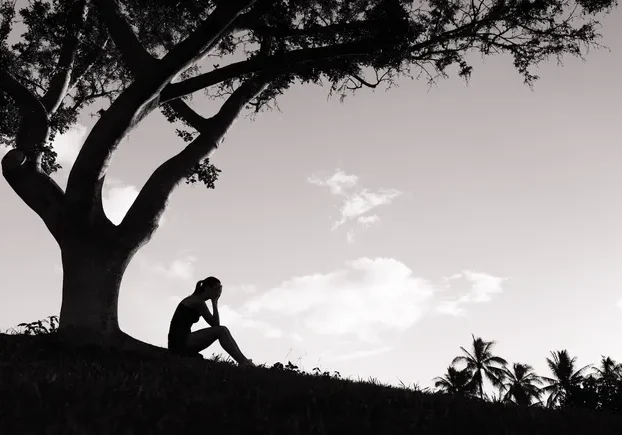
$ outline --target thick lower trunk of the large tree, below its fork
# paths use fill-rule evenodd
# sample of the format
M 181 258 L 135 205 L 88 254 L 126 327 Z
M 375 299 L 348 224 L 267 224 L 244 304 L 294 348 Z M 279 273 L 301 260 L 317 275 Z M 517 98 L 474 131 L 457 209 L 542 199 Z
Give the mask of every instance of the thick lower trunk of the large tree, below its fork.
M 118 303 L 123 274 L 146 243 L 122 240 L 115 227 L 94 214 L 96 223 L 68 225 L 59 240 L 63 289 L 58 338 L 71 346 L 95 345 L 161 356 L 167 350 L 130 337 L 119 327 Z

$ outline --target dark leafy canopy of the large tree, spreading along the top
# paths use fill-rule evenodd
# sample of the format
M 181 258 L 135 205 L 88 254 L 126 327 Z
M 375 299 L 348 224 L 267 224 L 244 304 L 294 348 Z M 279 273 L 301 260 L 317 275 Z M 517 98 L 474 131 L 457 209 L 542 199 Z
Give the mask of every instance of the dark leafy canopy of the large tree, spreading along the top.
M 452 66 L 468 78 L 470 52 L 510 54 L 531 84 L 540 62 L 583 56 L 597 46 L 596 17 L 616 3 L 29 0 L 21 9 L 17 5 L 16 0 L 1 0 L 0 90 L 5 92 L 0 92 L 0 143 L 12 146 L 24 110 L 16 103 L 10 77 L 46 110 L 50 140 L 39 152 L 42 170 L 50 174 L 59 168 L 50 145 L 56 133 L 73 125 L 85 108 L 107 108 L 134 81 L 145 80 L 143 68 L 165 59 L 175 47 L 192 45 L 193 37 L 196 42 L 210 26 L 219 31 L 209 43 L 196 46 L 199 51 L 162 88 L 157 103 L 188 142 L 197 132 L 189 128 L 189 106 L 179 102 L 198 91 L 227 98 L 262 74 L 269 76 L 267 85 L 246 103 L 254 111 L 270 107 L 296 82 L 326 84 L 344 97 L 363 87 L 390 87 L 404 76 L 434 81 L 446 77 Z M 216 175 L 203 160 L 187 180 L 213 187 Z

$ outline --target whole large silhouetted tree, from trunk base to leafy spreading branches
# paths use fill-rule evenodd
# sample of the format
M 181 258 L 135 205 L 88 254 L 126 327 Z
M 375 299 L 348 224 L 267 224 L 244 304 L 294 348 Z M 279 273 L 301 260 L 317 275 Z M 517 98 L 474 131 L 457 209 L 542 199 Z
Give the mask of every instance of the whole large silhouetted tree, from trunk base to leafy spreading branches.
M 531 83 L 540 62 L 598 45 L 596 18 L 614 2 L 29 0 L 17 10 L 0 0 L 0 141 L 11 148 L 2 172 L 60 247 L 61 334 L 137 343 L 118 325 L 123 273 L 181 181 L 213 187 L 208 159 L 247 108 L 269 107 L 296 82 L 345 95 L 400 76 L 434 80 L 452 65 L 468 77 L 469 52 L 508 53 Z M 216 114 L 188 104 L 202 90 L 223 99 Z M 50 178 L 52 139 L 89 108 L 100 118 L 63 190 Z M 189 143 L 114 225 L 101 198 L 108 163 L 158 109 Z

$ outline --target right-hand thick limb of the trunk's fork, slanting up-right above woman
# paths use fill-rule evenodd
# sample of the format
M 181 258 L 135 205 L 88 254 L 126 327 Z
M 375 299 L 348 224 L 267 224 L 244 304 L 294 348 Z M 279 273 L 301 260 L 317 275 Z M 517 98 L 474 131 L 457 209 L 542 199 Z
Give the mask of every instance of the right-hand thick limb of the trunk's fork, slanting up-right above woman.
M 200 135 L 183 151 L 160 165 L 141 189 L 120 224 L 123 238 L 132 239 L 139 245 L 149 240 L 175 187 L 198 163 L 214 153 L 244 105 L 265 89 L 268 80 L 269 77 L 264 76 L 246 81 L 231 94 L 216 115 L 202 121 L 201 125 L 195 124 Z M 188 106 L 186 108 L 192 111 Z M 186 113 L 178 112 L 178 115 L 185 117 Z

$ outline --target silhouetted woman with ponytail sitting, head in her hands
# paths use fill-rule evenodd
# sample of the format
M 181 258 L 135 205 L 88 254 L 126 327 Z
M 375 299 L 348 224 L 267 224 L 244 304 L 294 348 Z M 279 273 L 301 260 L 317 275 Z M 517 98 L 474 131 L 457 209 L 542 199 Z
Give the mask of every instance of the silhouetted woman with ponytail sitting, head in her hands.
M 218 278 L 210 276 L 197 283 L 194 293 L 184 298 L 177 305 L 168 332 L 168 348 L 171 353 L 177 355 L 200 356 L 198 355 L 199 352 L 218 340 L 222 348 L 238 364 L 254 365 L 251 359 L 242 354 L 229 329 L 220 324 L 218 298 L 221 294 L 222 284 Z M 207 308 L 207 300 L 212 301 L 213 314 Z M 191 332 L 192 324 L 198 322 L 201 316 L 210 325 L 210 328 Z

